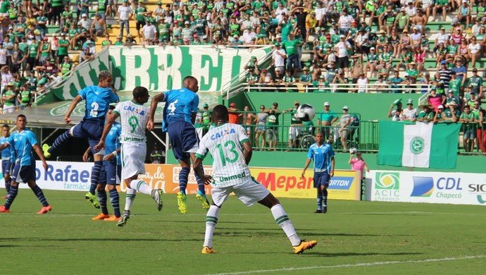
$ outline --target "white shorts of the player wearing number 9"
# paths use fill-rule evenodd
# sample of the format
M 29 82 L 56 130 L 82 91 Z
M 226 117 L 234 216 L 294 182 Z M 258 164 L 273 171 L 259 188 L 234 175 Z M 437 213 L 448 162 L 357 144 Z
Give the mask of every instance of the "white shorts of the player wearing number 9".
M 147 144 L 145 142 L 122 143 L 121 152 L 123 157 L 123 180 L 145 173 L 145 156 L 147 154 Z

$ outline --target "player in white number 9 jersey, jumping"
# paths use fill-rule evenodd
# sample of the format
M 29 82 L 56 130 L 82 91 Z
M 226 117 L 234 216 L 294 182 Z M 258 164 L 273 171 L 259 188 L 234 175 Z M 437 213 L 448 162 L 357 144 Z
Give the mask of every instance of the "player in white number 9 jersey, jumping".
M 138 175 L 145 173 L 145 155 L 147 154 L 145 128 L 149 121 L 149 108 L 143 106 L 143 104 L 149 101 L 149 97 L 149 90 L 146 87 L 135 87 L 133 99 L 118 104 L 113 113 L 108 116 L 101 140 L 95 146 L 96 149 L 104 147 L 106 135 L 108 135 L 116 118 L 120 116 L 122 128 L 120 143 L 123 157 L 122 178 L 127 185 L 127 196 L 125 211 L 118 219 L 118 226 L 124 226 L 130 219 L 130 209 L 137 191 L 151 195 L 157 203 L 158 211 L 162 209 L 162 190 L 152 189 L 146 182 L 137 179 Z

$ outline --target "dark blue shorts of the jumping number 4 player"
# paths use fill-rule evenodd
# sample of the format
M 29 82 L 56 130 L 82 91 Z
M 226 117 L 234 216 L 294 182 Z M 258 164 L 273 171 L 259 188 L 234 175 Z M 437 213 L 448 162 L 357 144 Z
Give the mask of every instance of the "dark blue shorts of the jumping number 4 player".
M 189 153 L 196 153 L 199 137 L 196 128 L 187 121 L 174 121 L 167 127 L 167 134 L 177 161 L 189 159 Z

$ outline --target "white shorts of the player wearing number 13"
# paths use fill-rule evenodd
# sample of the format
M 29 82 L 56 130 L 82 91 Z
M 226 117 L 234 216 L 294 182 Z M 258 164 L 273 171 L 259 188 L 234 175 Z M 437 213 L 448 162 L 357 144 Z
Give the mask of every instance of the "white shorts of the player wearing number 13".
M 248 178 L 244 183 L 239 183 L 237 185 L 223 188 L 213 186 L 211 197 L 213 198 L 214 204 L 220 207 L 223 205 L 223 202 L 228 200 L 228 196 L 232 192 L 234 192 L 239 200 L 241 200 L 247 206 L 251 206 L 255 204 L 255 202 L 263 200 L 266 196 L 268 196 L 268 194 L 270 194 L 270 191 L 255 181 L 254 178 Z

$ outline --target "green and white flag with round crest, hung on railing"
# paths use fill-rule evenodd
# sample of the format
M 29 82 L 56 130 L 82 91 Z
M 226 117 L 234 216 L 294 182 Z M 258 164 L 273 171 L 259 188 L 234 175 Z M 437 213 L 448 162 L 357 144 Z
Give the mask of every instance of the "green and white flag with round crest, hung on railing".
M 454 169 L 460 123 L 380 121 L 378 164 Z

